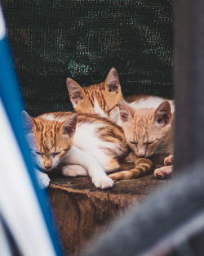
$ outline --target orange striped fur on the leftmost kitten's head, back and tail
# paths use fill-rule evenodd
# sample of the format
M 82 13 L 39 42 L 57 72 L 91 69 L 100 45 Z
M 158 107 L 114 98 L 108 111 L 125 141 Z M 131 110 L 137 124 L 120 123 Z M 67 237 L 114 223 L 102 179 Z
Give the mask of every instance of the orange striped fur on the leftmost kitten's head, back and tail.
M 73 119 L 75 115 L 76 114 L 71 112 L 56 112 L 43 114 L 37 118 L 31 118 L 37 154 L 42 157 L 44 169 L 49 170 L 49 168 L 51 168 L 55 154 L 57 158 L 63 159 L 70 147 L 77 144 L 74 138 L 77 136 L 78 128 L 80 128 L 82 124 L 95 124 L 96 126 L 100 124 L 96 130 L 97 136 L 101 141 L 107 142 L 107 146 L 104 144 L 104 147 L 101 147 L 100 151 L 101 154 L 104 152 L 105 155 L 109 157 L 109 166 L 104 167 L 105 171 L 108 173 L 117 171 L 121 169 L 124 164 L 128 165 L 130 162 L 135 165 L 130 171 L 122 170 L 122 172 L 110 174 L 109 177 L 116 181 L 118 179 L 140 177 L 149 173 L 153 166 L 152 162 L 149 159 L 138 159 L 137 156 L 130 154 L 130 148 L 126 143 L 122 128 L 109 119 L 91 114 L 78 114 L 78 124 L 75 135 L 70 137 L 64 134 L 64 124 L 69 122 L 69 119 Z M 91 139 L 92 137 L 88 138 L 90 141 Z M 75 146 L 81 146 L 82 148 L 80 141 L 78 143 L 79 144 Z M 110 147 L 109 143 L 113 143 L 115 147 Z M 103 163 L 100 164 L 103 165 Z

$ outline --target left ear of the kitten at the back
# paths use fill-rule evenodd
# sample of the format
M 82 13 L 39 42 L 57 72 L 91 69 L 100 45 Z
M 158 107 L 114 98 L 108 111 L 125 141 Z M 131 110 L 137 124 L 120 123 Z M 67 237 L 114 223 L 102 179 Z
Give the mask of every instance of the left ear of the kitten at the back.
M 78 105 L 79 101 L 84 98 L 84 92 L 81 86 L 73 79 L 67 79 L 67 89 L 69 92 L 70 100 L 72 101 L 73 107 Z

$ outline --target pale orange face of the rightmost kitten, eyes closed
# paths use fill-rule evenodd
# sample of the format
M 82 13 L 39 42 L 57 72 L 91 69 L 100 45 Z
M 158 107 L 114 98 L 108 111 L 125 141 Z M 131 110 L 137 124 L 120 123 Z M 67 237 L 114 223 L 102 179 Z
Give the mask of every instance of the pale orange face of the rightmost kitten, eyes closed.
M 134 110 L 120 101 L 119 109 L 126 141 L 135 155 L 148 158 L 162 154 L 162 143 L 171 129 L 169 102 L 163 101 L 156 110 Z

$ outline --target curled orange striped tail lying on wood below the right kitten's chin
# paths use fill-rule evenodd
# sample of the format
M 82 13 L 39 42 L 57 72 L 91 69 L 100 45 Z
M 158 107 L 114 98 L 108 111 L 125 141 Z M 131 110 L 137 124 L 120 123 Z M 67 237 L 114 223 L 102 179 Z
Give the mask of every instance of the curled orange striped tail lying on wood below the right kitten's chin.
M 113 181 L 128 180 L 131 178 L 141 177 L 150 173 L 153 168 L 153 162 L 146 158 L 139 158 L 135 160 L 135 168 L 128 171 L 121 171 L 109 175 Z

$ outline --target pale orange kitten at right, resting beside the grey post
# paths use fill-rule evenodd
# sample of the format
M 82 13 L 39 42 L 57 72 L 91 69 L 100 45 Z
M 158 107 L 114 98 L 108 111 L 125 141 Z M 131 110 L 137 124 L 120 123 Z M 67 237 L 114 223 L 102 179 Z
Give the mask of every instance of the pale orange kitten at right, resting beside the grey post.
M 138 157 L 153 160 L 154 164 L 165 164 L 154 171 L 156 177 L 165 177 L 172 172 L 174 112 L 171 105 L 163 101 L 157 109 L 138 109 L 118 103 L 122 128 L 126 141 Z

